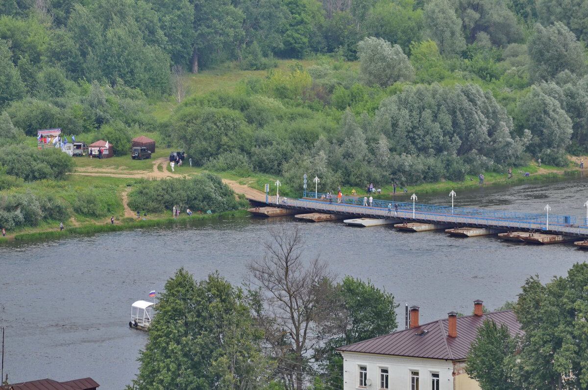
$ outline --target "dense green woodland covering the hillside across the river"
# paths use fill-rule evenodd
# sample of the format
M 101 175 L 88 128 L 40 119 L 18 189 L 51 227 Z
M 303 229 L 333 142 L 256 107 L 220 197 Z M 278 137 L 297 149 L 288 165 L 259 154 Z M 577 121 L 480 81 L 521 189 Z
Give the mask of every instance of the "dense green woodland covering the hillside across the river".
M 196 164 L 336 184 L 463 180 L 588 146 L 580 2 L 11 0 L 0 5 L 0 130 L 160 130 Z M 274 70 L 275 58 L 315 58 Z M 359 69 L 346 60 L 359 61 Z M 268 69 L 184 100 L 186 72 Z M 158 98 L 181 103 L 162 123 Z

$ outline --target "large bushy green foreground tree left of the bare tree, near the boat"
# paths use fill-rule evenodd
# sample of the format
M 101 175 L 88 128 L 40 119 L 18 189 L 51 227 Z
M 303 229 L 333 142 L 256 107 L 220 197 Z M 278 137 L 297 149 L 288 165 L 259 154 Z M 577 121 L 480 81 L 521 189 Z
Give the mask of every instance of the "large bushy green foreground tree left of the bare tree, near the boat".
M 183 268 L 165 284 L 128 389 L 265 388 L 262 332 L 242 290 L 218 273 L 196 283 Z

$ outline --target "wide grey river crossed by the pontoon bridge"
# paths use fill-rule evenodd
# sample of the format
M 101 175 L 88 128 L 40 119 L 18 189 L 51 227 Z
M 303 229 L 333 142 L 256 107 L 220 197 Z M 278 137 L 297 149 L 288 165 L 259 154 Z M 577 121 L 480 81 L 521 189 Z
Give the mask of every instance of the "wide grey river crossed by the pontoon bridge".
M 458 192 L 456 206 L 572 215 L 582 224 L 588 181 L 480 188 Z M 417 194 L 419 196 L 419 194 Z M 408 197 L 402 197 L 406 200 Z M 450 205 L 447 194 L 419 203 Z M 138 372 L 147 335 L 129 329 L 131 303 L 161 291 L 179 267 L 196 279 L 218 270 L 240 285 L 246 265 L 263 255 L 268 227 L 296 223 L 308 258 L 319 255 L 339 278 L 371 280 L 392 293 L 404 326 L 404 304 L 420 306 L 420 323 L 469 314 L 473 300 L 489 309 L 515 300 L 527 277 L 566 275 L 588 252 L 572 244 L 533 246 L 496 236 L 457 239 L 444 232 L 403 233 L 389 226 L 244 217 L 51 242 L 0 246 L 0 326 L 9 382 L 91 376 L 100 389 L 123 389 Z

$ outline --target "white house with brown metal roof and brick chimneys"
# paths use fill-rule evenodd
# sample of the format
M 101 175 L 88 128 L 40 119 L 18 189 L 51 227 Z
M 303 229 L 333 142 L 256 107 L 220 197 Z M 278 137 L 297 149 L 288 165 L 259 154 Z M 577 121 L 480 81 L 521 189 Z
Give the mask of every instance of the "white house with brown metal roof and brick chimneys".
M 419 307 L 410 308 L 410 328 L 338 348 L 343 356 L 343 390 L 479 390 L 465 373 L 470 345 L 486 319 L 520 331 L 512 310 L 483 313 L 474 301 L 474 314 L 419 325 Z

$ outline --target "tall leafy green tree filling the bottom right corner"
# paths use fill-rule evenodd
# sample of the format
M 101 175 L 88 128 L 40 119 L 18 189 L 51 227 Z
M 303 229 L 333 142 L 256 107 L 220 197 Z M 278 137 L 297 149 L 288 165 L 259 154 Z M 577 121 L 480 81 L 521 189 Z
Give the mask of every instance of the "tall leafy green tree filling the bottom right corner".
M 523 334 L 516 375 L 525 388 L 588 386 L 588 264 L 542 285 L 529 277 L 515 308 Z

